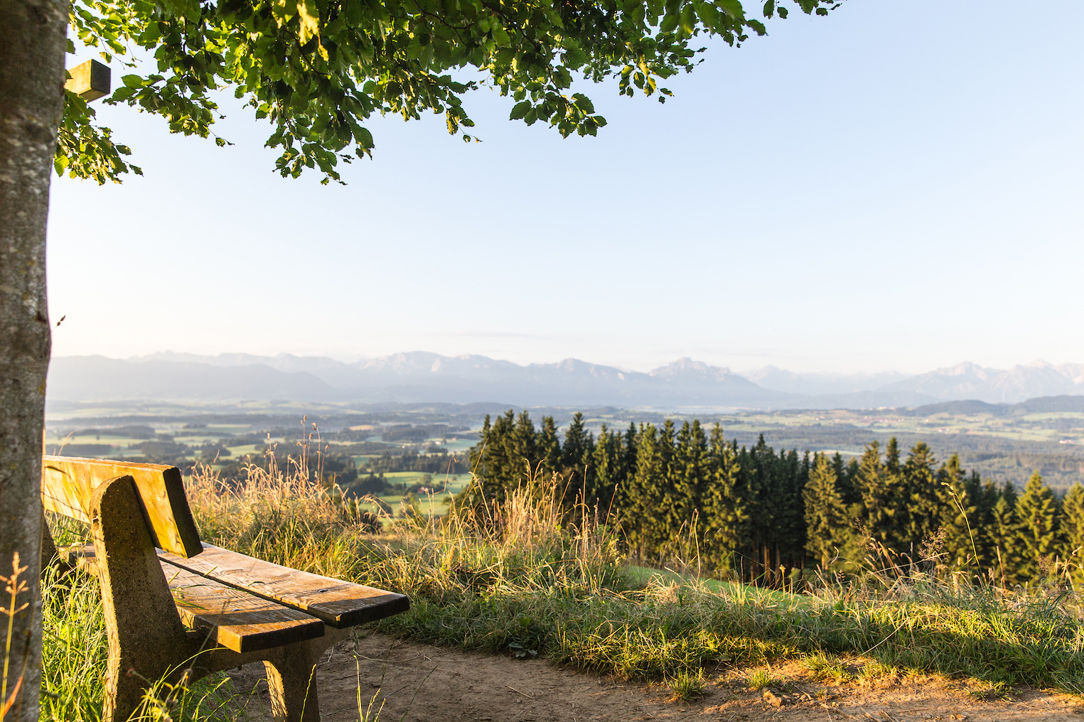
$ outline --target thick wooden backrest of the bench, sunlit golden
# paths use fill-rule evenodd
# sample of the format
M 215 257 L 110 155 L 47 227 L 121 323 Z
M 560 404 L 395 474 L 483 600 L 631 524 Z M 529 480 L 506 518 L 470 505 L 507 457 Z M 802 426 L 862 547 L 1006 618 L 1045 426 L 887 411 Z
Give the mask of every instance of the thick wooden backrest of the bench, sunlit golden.
M 89 523 L 94 489 L 118 476 L 136 480 L 144 521 L 155 546 L 183 557 L 203 551 L 181 472 L 176 466 L 42 456 L 41 502 L 50 512 Z

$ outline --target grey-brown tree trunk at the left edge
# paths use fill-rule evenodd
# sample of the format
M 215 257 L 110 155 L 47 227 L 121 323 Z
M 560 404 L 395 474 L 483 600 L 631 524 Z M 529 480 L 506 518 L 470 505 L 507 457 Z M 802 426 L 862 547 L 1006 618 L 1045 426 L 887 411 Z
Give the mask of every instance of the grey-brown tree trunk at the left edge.
M 26 567 L 18 601 L 29 603 L 14 617 L 8 695 L 21 678 L 22 684 L 9 722 L 37 722 L 41 682 L 46 220 L 64 109 L 66 30 L 65 0 L 0 0 L 0 576 L 11 576 L 17 554 Z

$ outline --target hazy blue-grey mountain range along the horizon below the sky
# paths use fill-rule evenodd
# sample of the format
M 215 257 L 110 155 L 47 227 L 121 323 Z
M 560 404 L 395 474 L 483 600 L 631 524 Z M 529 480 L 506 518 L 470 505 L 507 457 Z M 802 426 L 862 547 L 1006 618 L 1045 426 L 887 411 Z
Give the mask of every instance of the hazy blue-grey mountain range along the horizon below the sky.
M 647 373 L 566 359 L 526 366 L 483 356 L 395 353 L 356 363 L 324 357 L 170 351 L 131 359 L 53 359 L 54 401 L 495 401 L 521 407 L 620 405 L 744 409 L 872 409 L 973 399 L 1017 403 L 1084 395 L 1084 364 L 1035 361 L 1007 371 L 964 362 L 917 376 L 749 373 L 692 359 Z

